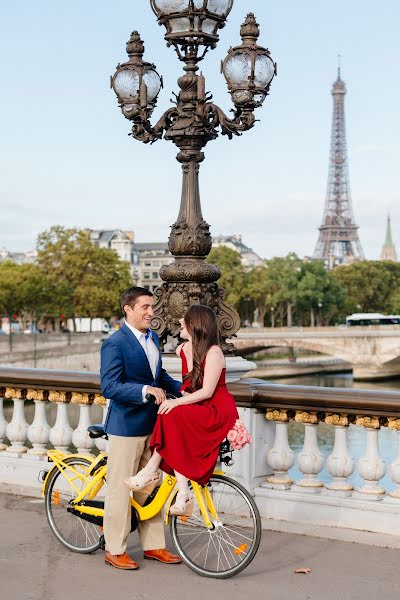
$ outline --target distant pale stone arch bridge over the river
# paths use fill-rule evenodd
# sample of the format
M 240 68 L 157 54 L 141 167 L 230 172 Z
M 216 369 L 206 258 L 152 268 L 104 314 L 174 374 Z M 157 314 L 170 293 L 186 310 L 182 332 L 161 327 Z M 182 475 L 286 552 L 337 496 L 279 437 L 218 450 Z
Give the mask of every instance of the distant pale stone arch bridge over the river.
M 400 376 L 399 325 L 245 328 L 233 343 L 241 354 L 278 346 L 327 354 L 350 363 L 354 379 Z

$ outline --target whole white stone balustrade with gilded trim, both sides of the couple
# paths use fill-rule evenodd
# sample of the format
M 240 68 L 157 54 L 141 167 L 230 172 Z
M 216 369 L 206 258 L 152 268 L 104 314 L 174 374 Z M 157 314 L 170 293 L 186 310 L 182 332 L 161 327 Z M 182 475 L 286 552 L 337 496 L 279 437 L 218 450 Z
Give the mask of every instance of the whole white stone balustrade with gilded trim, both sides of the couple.
M 254 440 L 234 453 L 229 474 L 253 492 L 263 517 L 400 533 L 399 393 L 250 379 L 229 389 Z M 34 414 L 27 420 L 28 402 Z M 89 438 L 87 427 L 105 411 L 97 373 L 0 368 L 0 489 L 37 495 L 48 448 L 104 451 L 105 441 Z M 333 434 L 328 454 L 321 427 Z M 349 435 L 355 430 L 361 453 Z M 384 433 L 393 437 L 386 460 Z

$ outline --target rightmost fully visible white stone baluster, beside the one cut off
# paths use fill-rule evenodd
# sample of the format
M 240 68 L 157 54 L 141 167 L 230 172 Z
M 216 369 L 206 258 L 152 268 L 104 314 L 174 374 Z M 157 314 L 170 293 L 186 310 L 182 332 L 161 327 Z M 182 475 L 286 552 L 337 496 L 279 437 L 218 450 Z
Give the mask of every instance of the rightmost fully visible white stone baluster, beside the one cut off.
M 354 496 L 364 500 L 382 500 L 385 490 L 379 481 L 386 473 L 386 463 L 379 453 L 379 417 L 357 417 L 356 425 L 365 428 L 365 454 L 358 461 L 358 473 L 364 485 L 357 488 Z

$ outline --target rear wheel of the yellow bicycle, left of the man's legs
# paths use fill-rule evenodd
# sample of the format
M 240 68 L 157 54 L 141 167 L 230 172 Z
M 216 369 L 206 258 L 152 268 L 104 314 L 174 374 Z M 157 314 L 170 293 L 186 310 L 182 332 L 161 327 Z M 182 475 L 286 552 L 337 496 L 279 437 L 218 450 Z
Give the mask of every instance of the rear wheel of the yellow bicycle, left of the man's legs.
M 92 465 L 91 461 L 87 458 L 72 456 L 66 458 L 64 462 L 76 471 L 74 476 L 71 472 L 68 473 L 69 477 L 74 477 L 73 482 L 76 488 L 80 491 L 86 487 L 90 481 L 88 473 Z M 71 501 L 76 498 L 77 493 L 59 469 L 54 469 L 49 477 L 45 510 L 50 529 L 56 538 L 72 552 L 81 554 L 95 552 L 102 545 L 101 525 L 85 521 L 68 511 L 71 508 Z M 102 503 L 104 498 L 96 496 L 93 500 Z

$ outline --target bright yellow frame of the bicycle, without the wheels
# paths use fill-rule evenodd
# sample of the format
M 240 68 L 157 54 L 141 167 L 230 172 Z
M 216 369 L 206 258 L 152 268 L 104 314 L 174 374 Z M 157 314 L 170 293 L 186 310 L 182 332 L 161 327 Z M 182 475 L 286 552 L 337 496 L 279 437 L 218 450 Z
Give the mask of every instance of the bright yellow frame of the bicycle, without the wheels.
M 104 456 L 105 454 L 101 453 L 98 455 L 97 458 L 93 459 L 93 457 L 89 457 L 84 454 L 66 454 L 65 452 L 61 452 L 59 450 L 50 450 L 48 452 L 48 457 L 49 460 L 51 460 L 54 463 L 54 466 L 48 472 L 45 478 L 42 489 L 42 496 L 46 494 L 50 473 L 52 473 L 54 469 L 58 469 L 63 475 L 63 477 L 65 477 L 66 481 L 68 481 L 70 486 L 76 492 L 76 498 L 72 503 L 74 510 L 82 514 L 93 515 L 96 517 L 104 517 L 104 508 L 87 506 L 84 503 L 85 500 L 92 500 L 104 485 L 104 479 L 107 473 L 106 465 L 99 467 L 96 471 L 96 464 L 99 464 L 104 458 Z M 65 462 L 66 459 L 72 457 L 85 458 L 91 461 L 91 465 L 88 467 L 88 475 L 89 472 L 93 473 L 93 478 L 90 481 L 87 481 L 89 478 L 88 475 L 76 471 L 74 467 Z M 214 474 L 222 475 L 223 472 L 214 471 Z M 77 479 L 83 482 L 87 482 L 87 484 L 83 487 L 82 490 L 79 490 L 74 483 Z M 195 498 L 197 500 L 198 506 L 200 508 L 204 524 L 207 528 L 212 529 L 212 520 L 218 520 L 218 514 L 215 509 L 210 490 L 207 486 L 202 487 L 195 481 L 191 481 L 191 486 Z M 166 524 L 168 524 L 169 509 L 172 505 L 176 492 L 176 478 L 172 475 L 167 475 L 164 478 L 157 494 L 149 504 L 147 504 L 146 506 L 141 506 L 134 498 L 131 498 L 131 505 L 137 511 L 140 521 L 147 521 L 148 519 L 152 519 L 163 509 L 164 506 L 167 505 L 165 522 Z M 169 498 L 170 500 L 168 502 Z

